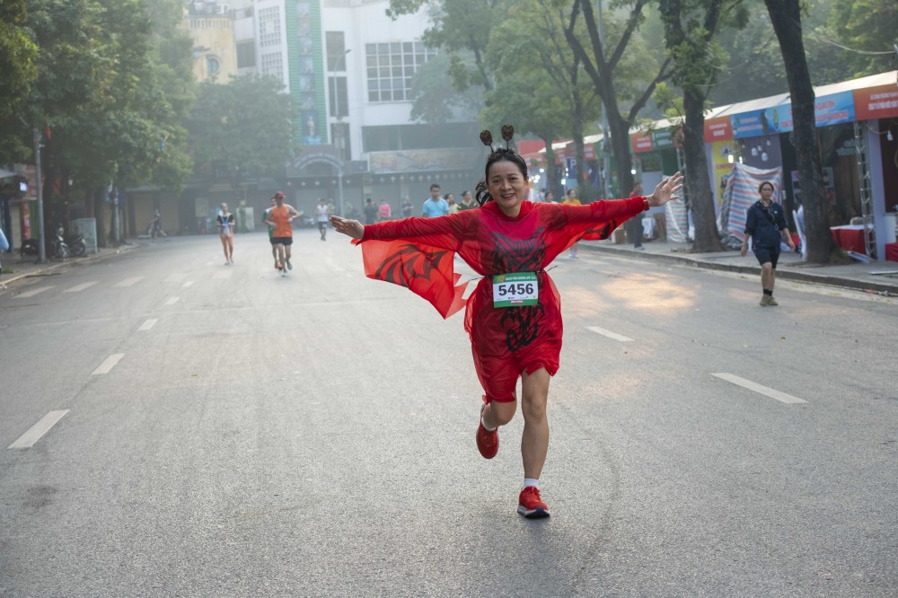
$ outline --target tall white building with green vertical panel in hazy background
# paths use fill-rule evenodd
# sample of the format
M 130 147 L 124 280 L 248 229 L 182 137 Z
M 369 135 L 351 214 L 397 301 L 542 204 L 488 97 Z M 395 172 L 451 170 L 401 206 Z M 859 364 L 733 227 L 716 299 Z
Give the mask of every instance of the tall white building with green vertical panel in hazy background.
M 286 169 L 299 207 L 319 197 L 357 209 L 365 198 L 418 204 L 431 182 L 458 197 L 476 180 L 475 123 L 410 121 L 412 77 L 435 50 L 426 10 L 393 21 L 389 0 L 255 0 L 234 10 L 237 66 L 280 79 L 295 100 Z M 447 89 L 446 92 L 453 92 Z M 344 176 L 337 172 L 342 168 Z

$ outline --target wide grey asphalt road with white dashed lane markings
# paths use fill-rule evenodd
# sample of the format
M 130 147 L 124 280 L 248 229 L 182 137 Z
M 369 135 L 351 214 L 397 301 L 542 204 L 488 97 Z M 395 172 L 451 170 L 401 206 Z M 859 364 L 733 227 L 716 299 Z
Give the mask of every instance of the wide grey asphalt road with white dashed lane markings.
M 256 233 L 0 295 L 0 595 L 898 594 L 894 303 L 559 258 L 528 521 L 462 315 L 336 237 L 297 232 L 286 278 Z

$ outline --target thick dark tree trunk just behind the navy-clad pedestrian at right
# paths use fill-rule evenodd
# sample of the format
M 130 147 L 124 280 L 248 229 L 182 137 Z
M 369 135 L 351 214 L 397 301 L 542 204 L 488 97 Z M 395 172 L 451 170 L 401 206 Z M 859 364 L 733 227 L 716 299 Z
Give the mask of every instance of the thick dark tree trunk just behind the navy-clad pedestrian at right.
M 837 248 L 824 205 L 826 194 L 820 155 L 817 153 L 814 87 L 807 71 L 805 45 L 801 36 L 801 7 L 798 0 L 764 0 L 764 4 L 767 4 L 770 22 L 779 40 L 792 99 L 793 131 L 790 137 L 798 157 L 798 180 L 807 229 L 807 260 L 823 264 L 829 262 L 832 251 Z

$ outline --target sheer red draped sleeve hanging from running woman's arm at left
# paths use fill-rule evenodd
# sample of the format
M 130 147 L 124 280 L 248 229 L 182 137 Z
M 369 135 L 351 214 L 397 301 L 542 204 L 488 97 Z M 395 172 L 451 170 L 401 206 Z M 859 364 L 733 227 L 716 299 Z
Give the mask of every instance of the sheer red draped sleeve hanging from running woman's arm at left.
M 444 318 L 464 307 L 468 283 L 457 284 L 453 257 L 476 229 L 475 210 L 436 218 L 365 224 L 361 241 L 365 276 L 405 286 Z

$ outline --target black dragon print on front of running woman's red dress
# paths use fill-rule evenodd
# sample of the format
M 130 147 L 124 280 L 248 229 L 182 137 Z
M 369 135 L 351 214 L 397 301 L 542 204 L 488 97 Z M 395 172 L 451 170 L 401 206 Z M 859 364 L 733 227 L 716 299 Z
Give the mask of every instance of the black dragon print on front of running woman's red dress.
M 540 289 L 545 284 L 542 271 L 546 256 L 546 243 L 542 239 L 545 227 L 533 232 L 529 239 L 509 239 L 504 234 L 492 233 L 493 252 L 490 271 L 497 274 L 508 272 L 536 272 Z M 502 308 L 502 330 L 505 330 L 506 347 L 515 352 L 532 343 L 540 330 L 539 322 L 544 308 L 542 303 L 521 307 Z

